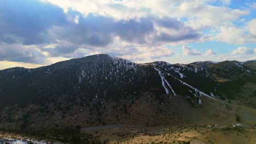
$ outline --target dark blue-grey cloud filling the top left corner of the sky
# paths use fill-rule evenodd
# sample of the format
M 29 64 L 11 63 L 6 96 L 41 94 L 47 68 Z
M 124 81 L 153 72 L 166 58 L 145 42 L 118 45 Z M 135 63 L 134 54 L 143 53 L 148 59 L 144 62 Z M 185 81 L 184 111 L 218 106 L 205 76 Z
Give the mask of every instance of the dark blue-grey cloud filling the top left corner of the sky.
M 63 10 L 50 3 L 33 0 L 0 1 L 0 43 L 51 43 L 54 40 L 48 37 L 48 30 L 65 21 Z

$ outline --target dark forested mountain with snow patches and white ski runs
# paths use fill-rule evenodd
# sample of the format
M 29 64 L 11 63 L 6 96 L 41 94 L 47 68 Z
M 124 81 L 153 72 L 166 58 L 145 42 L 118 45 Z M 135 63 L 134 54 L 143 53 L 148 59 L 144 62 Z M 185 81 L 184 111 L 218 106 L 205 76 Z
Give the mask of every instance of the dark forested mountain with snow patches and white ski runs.
M 256 108 L 255 79 L 256 71 L 237 61 L 137 64 L 105 54 L 4 69 L 0 128 L 187 123 L 185 109 L 204 109 L 219 99 Z

